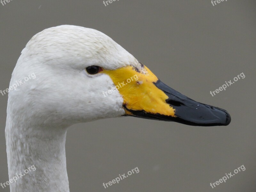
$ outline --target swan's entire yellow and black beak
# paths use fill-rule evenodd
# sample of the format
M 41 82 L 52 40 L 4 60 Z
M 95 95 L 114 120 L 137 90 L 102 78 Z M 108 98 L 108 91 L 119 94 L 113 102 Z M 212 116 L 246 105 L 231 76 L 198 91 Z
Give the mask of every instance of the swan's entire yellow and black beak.
M 142 64 L 141 69 L 128 66 L 105 73 L 124 98 L 125 116 L 194 126 L 228 125 L 231 121 L 226 110 L 196 102 L 175 91 Z

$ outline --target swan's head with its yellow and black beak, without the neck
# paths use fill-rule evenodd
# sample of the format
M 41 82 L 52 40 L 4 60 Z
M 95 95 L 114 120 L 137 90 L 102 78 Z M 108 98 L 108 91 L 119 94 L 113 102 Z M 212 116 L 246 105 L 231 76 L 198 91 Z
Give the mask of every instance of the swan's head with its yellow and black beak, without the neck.
M 31 38 L 10 85 L 8 104 L 36 124 L 71 125 L 135 116 L 189 125 L 228 125 L 227 111 L 198 103 L 162 83 L 105 34 L 63 25 Z M 33 118 L 30 118 L 33 117 Z

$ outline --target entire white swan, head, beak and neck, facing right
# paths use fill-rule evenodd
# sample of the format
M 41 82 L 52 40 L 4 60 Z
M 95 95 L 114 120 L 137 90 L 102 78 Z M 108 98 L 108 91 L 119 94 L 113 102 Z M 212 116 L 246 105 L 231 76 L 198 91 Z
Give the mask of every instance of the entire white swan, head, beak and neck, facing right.
M 198 126 L 231 121 L 226 110 L 161 82 L 95 29 L 62 25 L 33 36 L 10 85 L 33 73 L 36 78 L 9 92 L 5 137 L 9 178 L 32 165 L 36 171 L 10 183 L 11 192 L 69 191 L 65 141 L 72 124 L 121 116 Z

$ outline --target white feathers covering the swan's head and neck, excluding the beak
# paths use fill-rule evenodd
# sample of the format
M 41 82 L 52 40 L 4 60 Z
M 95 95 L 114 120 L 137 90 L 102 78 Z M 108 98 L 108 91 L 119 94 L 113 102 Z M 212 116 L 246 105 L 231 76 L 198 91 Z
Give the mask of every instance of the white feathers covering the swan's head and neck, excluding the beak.
M 36 171 L 10 185 L 11 192 L 67 192 L 65 140 L 75 123 L 124 115 L 119 92 L 106 74 L 89 75 L 97 65 L 140 68 L 130 53 L 103 33 L 63 25 L 36 34 L 23 49 L 10 85 L 35 73 L 9 93 L 6 145 L 9 178 L 35 165 Z

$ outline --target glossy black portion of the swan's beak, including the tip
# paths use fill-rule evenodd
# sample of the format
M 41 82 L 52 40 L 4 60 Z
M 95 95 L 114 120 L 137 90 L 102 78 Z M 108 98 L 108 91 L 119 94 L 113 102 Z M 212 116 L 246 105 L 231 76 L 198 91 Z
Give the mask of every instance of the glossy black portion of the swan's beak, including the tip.
M 160 80 L 154 84 L 168 96 L 165 102 L 175 109 L 175 116 L 147 113 L 143 110 L 131 110 L 124 105 L 124 108 L 126 108 L 132 116 L 162 121 L 175 121 L 194 126 L 228 125 L 231 121 L 230 115 L 224 109 L 196 102 L 175 91 Z

